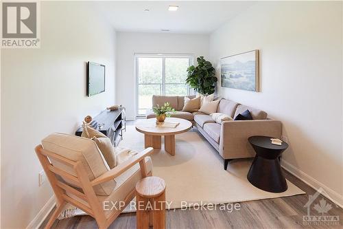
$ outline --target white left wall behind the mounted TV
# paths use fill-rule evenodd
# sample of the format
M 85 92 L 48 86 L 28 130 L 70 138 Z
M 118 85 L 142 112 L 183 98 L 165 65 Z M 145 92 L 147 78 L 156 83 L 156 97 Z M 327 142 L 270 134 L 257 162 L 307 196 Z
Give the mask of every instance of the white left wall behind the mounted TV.
M 53 195 L 34 146 L 115 103 L 112 26 L 75 2 L 42 1 L 40 21 L 40 49 L 1 50 L 1 228 L 25 228 Z M 106 92 L 91 98 L 86 61 L 106 65 Z

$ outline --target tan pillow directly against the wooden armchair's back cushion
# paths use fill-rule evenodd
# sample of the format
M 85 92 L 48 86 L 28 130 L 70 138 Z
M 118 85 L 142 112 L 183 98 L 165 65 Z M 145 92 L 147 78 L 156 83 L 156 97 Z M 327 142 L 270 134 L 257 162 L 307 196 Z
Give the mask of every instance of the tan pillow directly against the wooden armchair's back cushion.
M 117 158 L 115 155 L 115 149 L 113 149 L 112 142 L 110 142 L 109 138 L 91 138 L 95 144 L 97 144 L 97 148 L 102 152 L 108 167 L 115 168 L 117 166 Z

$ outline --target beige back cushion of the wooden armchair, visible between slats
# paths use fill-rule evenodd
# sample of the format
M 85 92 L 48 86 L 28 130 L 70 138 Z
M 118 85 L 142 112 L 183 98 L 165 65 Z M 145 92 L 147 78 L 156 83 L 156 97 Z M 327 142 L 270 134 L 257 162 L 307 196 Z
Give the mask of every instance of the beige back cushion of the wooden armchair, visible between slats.
M 80 138 L 75 135 L 68 135 L 64 133 L 53 133 L 47 138 L 42 140 L 43 148 L 56 153 L 62 157 L 66 157 L 74 162 L 82 162 L 84 169 L 90 180 L 93 180 L 100 175 L 106 173 L 110 170 L 108 164 L 106 163 L 104 156 L 97 148 L 97 144 L 93 140 L 88 138 Z M 51 159 L 51 164 L 60 168 L 62 171 L 66 171 L 71 175 L 75 175 L 73 168 Z M 64 179 L 71 186 L 80 188 L 72 180 Z M 110 180 L 109 182 L 104 182 L 97 186 L 94 186 L 96 195 L 110 195 L 116 186 L 115 180 Z

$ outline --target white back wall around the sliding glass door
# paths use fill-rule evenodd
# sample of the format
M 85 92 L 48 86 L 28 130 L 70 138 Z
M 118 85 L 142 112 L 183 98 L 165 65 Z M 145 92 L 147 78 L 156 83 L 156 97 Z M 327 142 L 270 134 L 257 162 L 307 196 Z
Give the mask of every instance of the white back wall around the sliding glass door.
M 116 98 L 126 107 L 128 120 L 136 116 L 134 53 L 193 54 L 196 63 L 196 57 L 209 56 L 209 36 L 117 32 Z

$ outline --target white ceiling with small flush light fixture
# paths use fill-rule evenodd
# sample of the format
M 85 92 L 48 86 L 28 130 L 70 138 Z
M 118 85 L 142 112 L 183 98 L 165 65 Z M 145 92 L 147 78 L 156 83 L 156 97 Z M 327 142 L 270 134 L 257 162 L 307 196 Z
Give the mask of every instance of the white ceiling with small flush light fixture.
M 252 1 L 101 1 L 95 7 L 117 31 L 208 34 L 252 6 Z M 168 6 L 179 6 L 168 11 Z M 145 12 L 149 9 L 149 12 Z

